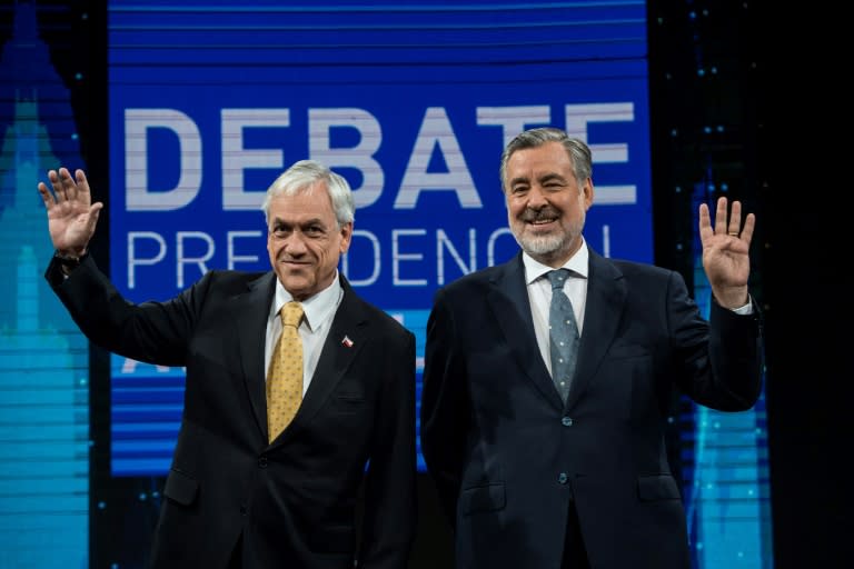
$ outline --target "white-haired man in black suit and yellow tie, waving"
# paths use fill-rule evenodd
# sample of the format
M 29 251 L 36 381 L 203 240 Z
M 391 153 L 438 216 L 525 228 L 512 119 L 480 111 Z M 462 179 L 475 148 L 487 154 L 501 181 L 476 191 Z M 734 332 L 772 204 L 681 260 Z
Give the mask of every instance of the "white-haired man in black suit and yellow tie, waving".
M 46 278 L 82 332 L 187 368 L 152 566 L 404 569 L 416 519 L 415 338 L 338 273 L 352 237 L 347 181 L 297 162 L 262 206 L 271 271 L 214 270 L 171 300 L 135 305 L 87 254 L 102 204 L 85 173 L 49 180 L 39 192 L 57 253 Z M 290 301 L 304 315 L 301 366 L 291 366 L 304 383 L 276 433 L 265 385 L 278 379 L 266 370 Z

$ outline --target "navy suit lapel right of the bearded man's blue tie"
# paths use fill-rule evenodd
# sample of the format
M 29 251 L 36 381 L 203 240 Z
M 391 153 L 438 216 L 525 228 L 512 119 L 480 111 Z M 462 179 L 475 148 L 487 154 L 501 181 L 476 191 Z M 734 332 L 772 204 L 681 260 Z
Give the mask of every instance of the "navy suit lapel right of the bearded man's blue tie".
M 567 396 L 567 408 L 575 405 L 596 375 L 617 333 L 627 296 L 623 273 L 617 267 L 592 249 L 589 254 L 584 329 L 578 347 L 578 367 Z

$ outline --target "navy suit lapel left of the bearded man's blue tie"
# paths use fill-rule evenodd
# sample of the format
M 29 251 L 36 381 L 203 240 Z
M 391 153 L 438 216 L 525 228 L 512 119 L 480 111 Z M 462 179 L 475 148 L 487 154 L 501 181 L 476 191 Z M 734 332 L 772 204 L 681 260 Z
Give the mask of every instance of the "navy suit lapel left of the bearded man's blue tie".
M 504 269 L 493 280 L 487 300 L 507 341 L 508 351 L 548 402 L 563 409 L 560 396 L 537 347 L 522 253 L 506 263 Z

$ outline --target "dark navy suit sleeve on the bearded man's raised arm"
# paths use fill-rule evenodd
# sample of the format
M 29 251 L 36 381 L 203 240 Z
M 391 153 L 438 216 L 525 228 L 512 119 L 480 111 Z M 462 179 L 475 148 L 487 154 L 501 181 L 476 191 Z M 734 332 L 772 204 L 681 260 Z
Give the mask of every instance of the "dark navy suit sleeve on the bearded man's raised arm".
M 744 411 L 762 390 L 762 315 L 736 315 L 712 300 L 706 322 L 682 276 L 671 273 L 668 322 L 678 383 L 695 402 L 718 411 Z

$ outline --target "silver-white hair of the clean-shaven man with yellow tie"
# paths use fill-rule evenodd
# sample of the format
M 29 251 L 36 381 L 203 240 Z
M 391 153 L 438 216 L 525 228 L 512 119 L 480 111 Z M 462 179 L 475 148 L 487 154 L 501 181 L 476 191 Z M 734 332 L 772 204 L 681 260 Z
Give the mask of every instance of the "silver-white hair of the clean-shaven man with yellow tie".
M 267 188 L 267 194 L 261 203 L 264 219 L 270 223 L 270 201 L 278 196 L 295 196 L 309 188 L 315 182 L 324 182 L 329 199 L 332 202 L 335 219 L 338 228 L 351 222 L 356 214 L 356 202 L 347 180 L 316 160 L 300 160 L 285 170 Z

